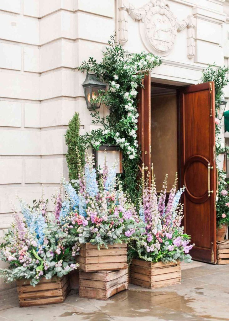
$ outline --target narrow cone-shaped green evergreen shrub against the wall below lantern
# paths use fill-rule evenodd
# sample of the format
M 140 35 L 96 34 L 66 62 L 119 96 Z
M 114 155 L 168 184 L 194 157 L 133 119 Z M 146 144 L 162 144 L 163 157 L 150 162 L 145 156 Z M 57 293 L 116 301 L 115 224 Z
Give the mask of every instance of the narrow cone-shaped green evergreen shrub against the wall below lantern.
M 68 146 L 66 160 L 69 169 L 69 179 L 78 179 L 81 166 L 84 165 L 84 147 L 80 136 L 80 117 L 79 113 L 75 113 L 69 121 L 68 129 L 65 134 L 65 143 Z M 79 156 L 77 156 L 77 152 Z M 81 164 L 79 164 L 79 159 Z M 74 184 L 73 184 L 74 185 Z

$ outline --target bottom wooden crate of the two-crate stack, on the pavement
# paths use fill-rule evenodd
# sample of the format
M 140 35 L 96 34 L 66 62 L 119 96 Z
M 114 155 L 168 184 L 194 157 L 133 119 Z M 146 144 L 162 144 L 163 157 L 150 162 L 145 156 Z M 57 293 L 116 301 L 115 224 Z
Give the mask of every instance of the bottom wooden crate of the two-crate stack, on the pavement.
M 128 289 L 128 267 L 119 271 L 80 271 L 79 296 L 107 300 L 112 295 Z

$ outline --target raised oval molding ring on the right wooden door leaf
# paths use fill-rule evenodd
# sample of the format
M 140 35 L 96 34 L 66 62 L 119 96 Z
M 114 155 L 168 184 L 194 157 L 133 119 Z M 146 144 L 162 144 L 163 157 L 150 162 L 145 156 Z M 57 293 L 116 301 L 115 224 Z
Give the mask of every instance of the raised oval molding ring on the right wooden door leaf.
M 189 186 L 187 184 L 187 173 L 188 173 L 188 169 L 190 168 L 190 166 L 193 163 L 198 163 L 198 162 L 200 162 L 206 166 L 207 183 L 206 183 L 206 192 L 203 193 L 202 195 L 195 196 L 191 193 Z M 207 158 L 205 158 L 204 156 L 200 156 L 200 155 L 192 156 L 185 162 L 185 165 L 184 165 L 185 194 L 188 197 L 188 199 L 193 203 L 197 203 L 197 204 L 204 203 L 209 198 L 209 196 L 208 196 L 208 164 L 209 164 L 209 161 L 207 160 Z

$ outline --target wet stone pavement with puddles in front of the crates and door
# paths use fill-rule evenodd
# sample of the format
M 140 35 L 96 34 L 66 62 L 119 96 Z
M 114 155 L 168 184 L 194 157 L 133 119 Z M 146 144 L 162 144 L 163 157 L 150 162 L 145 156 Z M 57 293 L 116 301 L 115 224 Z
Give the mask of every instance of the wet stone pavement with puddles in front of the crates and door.
M 0 292 L 0 321 L 228 320 L 229 265 L 182 264 L 182 283 L 148 290 L 130 284 L 107 301 L 79 298 L 20 308 L 16 288 Z

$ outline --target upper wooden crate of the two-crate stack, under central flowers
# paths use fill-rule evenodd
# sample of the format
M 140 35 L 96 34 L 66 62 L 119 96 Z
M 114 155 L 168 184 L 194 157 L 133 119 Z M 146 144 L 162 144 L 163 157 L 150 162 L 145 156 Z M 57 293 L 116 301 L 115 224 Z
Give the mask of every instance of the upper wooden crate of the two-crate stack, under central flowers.
M 76 262 L 84 272 L 124 270 L 127 268 L 127 245 L 109 245 L 108 249 L 102 246 L 98 250 L 97 245 L 82 244 Z

